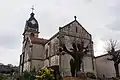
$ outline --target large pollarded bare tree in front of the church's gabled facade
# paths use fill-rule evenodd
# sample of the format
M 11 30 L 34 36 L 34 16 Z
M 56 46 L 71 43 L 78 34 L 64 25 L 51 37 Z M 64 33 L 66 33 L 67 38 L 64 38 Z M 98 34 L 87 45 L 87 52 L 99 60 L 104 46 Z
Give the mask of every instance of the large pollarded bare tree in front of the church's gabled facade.
M 65 44 L 62 45 L 63 51 L 65 51 L 67 54 L 71 55 L 73 59 L 70 61 L 71 65 L 71 73 L 72 76 L 75 75 L 75 72 L 77 74 L 78 71 L 81 69 L 82 59 L 85 54 L 87 54 L 88 45 L 84 45 L 84 41 L 81 41 L 80 43 L 72 43 L 72 48 L 68 50 L 65 46 Z M 74 66 L 72 64 L 75 64 Z M 77 76 L 77 75 L 76 75 Z

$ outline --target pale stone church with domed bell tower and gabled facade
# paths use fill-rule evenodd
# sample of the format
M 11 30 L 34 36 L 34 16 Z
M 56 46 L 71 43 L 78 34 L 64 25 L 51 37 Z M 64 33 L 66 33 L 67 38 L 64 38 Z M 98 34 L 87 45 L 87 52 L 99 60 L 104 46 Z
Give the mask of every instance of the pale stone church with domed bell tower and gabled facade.
M 45 67 L 58 67 L 63 76 L 70 76 L 70 59 L 72 56 L 66 52 L 63 54 L 59 49 L 64 43 L 67 49 L 71 51 L 73 42 L 80 43 L 83 40 L 85 46 L 88 45 L 89 52 L 83 57 L 81 71 L 96 74 L 92 36 L 76 20 L 76 17 L 72 22 L 59 27 L 59 31 L 50 39 L 38 37 L 39 27 L 32 12 L 26 21 L 23 32 L 20 73 L 26 70 L 31 71 L 34 68 L 40 70 Z

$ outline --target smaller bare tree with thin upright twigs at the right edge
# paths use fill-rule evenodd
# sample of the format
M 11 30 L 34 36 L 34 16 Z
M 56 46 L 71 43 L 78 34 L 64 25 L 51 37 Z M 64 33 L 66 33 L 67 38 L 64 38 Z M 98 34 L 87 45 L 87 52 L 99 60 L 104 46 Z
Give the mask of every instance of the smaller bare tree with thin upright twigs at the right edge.
M 117 40 L 109 40 L 107 44 L 107 53 L 111 56 L 108 60 L 114 62 L 114 68 L 116 71 L 116 77 L 119 77 L 119 63 L 120 63 L 120 51 L 117 50 L 118 42 Z

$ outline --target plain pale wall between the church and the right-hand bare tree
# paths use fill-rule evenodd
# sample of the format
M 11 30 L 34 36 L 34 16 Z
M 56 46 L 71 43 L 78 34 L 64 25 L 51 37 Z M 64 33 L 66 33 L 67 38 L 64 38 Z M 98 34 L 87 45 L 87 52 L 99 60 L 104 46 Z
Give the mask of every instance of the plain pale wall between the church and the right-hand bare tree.
M 103 78 L 103 75 L 106 78 L 115 77 L 114 62 L 107 60 L 109 57 L 109 55 L 105 55 L 96 58 L 96 70 L 99 78 Z

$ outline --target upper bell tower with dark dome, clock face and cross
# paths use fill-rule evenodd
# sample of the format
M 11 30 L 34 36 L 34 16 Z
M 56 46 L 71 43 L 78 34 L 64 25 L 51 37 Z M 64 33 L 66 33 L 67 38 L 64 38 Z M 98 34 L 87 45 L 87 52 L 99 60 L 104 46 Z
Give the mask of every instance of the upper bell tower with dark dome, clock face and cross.
M 39 34 L 39 25 L 38 21 L 34 17 L 32 8 L 32 13 L 30 14 L 30 18 L 26 21 L 24 32 L 23 32 L 23 42 L 28 38 L 28 37 L 38 37 Z

